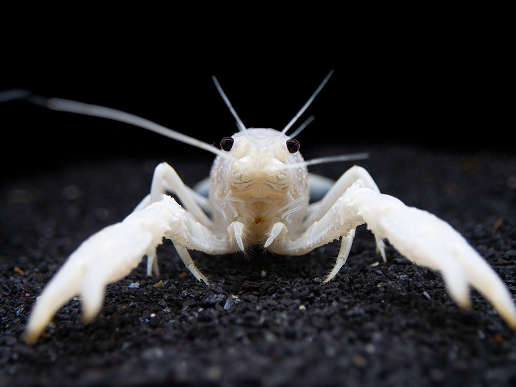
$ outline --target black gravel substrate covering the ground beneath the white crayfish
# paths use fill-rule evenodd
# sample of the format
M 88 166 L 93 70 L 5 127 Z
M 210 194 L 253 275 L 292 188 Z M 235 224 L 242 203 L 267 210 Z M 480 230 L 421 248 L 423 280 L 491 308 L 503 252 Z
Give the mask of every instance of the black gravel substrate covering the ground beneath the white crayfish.
M 450 222 L 516 293 L 513 153 L 367 150 L 360 164 L 384 193 Z M 342 148 L 304 155 L 332 153 Z M 168 161 L 187 184 L 209 170 L 204 161 Z M 205 286 L 165 242 L 161 276 L 147 277 L 142 261 L 107 287 L 92 324 L 81 324 L 74 299 L 26 345 L 21 334 L 43 286 L 80 241 L 132 211 L 157 162 L 77 162 L 0 187 L 0 385 L 516 385 L 516 333 L 487 301 L 472 292 L 473 310 L 460 310 L 438 273 L 392 247 L 381 262 L 364 226 L 326 285 L 335 243 L 302 257 L 193 252 Z M 336 178 L 349 166 L 314 171 Z

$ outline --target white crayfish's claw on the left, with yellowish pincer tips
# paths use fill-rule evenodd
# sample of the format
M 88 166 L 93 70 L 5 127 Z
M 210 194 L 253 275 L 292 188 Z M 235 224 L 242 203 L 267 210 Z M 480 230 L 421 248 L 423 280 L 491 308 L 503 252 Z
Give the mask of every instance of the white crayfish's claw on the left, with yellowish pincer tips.
M 170 197 L 134 212 L 86 239 L 52 278 L 30 314 L 25 340 L 33 343 L 54 314 L 72 297 L 80 295 L 83 320 L 99 314 L 106 284 L 118 281 L 151 255 L 178 218 L 181 209 Z

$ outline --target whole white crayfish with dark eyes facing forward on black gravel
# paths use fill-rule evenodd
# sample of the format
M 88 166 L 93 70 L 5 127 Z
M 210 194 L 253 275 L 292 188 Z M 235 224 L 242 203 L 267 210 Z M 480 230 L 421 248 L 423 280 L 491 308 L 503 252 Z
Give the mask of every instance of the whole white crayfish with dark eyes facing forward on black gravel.
M 516 308 L 507 287 L 448 223 L 381 194 L 361 167 L 352 167 L 331 183 L 308 173 L 308 165 L 362 156 L 305 161 L 293 137 L 308 121 L 292 136 L 286 135 L 330 75 L 281 132 L 246 128 L 214 78 L 239 128 L 222 139 L 221 149 L 115 109 L 43 99 L 22 90 L 4 92 L 0 99 L 21 98 L 55 110 L 127 122 L 216 155 L 209 182 L 201 182 L 197 190 L 184 185 L 170 165 L 159 164 L 150 194 L 134 212 L 85 240 L 45 287 L 29 317 L 25 340 L 36 342 L 53 315 L 76 295 L 80 295 L 84 320 L 92 320 L 101 309 L 106 284 L 127 276 L 144 255 L 148 256 L 147 273 L 158 274 L 156 247 L 164 237 L 172 241 L 193 276 L 206 283 L 188 250 L 218 255 L 261 245 L 275 254 L 302 255 L 341 239 L 335 265 L 325 279 L 330 281 L 345 264 L 355 229 L 363 223 L 374 233 L 383 260 L 386 238 L 410 261 L 440 271 L 450 296 L 461 307 L 469 306 L 472 285 L 516 329 Z M 207 198 L 199 193 L 203 190 L 209 190 Z M 311 190 L 327 192 L 309 204 Z M 181 205 L 166 192 L 179 198 Z

